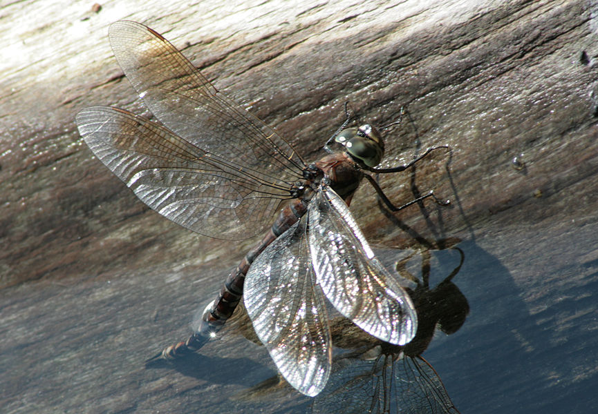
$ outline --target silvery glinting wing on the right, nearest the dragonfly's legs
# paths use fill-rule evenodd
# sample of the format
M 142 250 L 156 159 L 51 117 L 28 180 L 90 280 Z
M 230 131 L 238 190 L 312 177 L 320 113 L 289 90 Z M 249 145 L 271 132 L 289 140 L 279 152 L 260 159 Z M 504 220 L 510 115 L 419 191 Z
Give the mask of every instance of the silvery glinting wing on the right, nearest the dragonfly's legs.
M 417 331 L 409 295 L 374 256 L 346 204 L 321 187 L 308 208 L 317 283 L 337 310 L 367 333 L 403 345 Z

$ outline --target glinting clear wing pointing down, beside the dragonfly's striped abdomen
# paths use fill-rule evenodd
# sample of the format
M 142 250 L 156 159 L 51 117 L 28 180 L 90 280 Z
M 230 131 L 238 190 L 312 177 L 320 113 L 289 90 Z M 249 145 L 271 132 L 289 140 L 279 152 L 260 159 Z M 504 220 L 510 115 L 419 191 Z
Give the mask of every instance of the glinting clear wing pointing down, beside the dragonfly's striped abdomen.
M 278 237 L 251 265 L 244 303 L 260 341 L 299 392 L 317 395 L 330 375 L 324 295 L 315 284 L 305 220 Z

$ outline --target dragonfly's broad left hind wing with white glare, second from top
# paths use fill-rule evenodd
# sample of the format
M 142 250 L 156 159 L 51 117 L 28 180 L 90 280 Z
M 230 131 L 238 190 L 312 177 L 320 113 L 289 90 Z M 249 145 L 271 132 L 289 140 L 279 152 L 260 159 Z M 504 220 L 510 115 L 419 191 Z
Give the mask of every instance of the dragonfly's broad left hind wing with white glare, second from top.
M 285 194 L 125 110 L 86 108 L 77 126 L 97 158 L 145 204 L 202 235 L 246 239 L 260 233 Z

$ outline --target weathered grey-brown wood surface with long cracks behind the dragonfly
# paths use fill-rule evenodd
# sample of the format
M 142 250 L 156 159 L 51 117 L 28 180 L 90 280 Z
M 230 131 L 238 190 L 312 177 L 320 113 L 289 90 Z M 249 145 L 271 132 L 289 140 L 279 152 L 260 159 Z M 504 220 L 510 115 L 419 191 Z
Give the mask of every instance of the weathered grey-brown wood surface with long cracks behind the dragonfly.
M 389 219 L 364 184 L 352 209 L 375 242 L 466 241 L 460 283 L 471 318 L 437 351 L 453 355 L 438 362 L 449 393 L 469 412 L 540 412 L 567 407 L 576 393 L 595 402 L 583 394 L 597 382 L 588 335 L 598 266 L 592 1 L 91 6 L 0 8 L 3 411 L 212 413 L 273 373 L 264 351 L 241 339 L 207 346 L 189 366 L 143 367 L 183 338 L 249 242 L 198 237 L 148 210 L 77 135 L 74 117 L 86 106 L 149 115 L 111 54 L 107 26 L 118 19 L 165 34 L 308 158 L 342 121 L 345 101 L 378 125 L 406 107 L 411 122 L 387 132 L 386 163 L 439 144 L 451 146 L 451 162 L 445 168 L 448 157 L 435 152 L 414 173 L 383 177 L 384 188 L 398 203 L 413 198 L 412 183 L 435 188 L 453 206 Z M 499 357 L 529 365 L 485 372 Z M 532 366 L 541 368 L 530 374 Z M 501 384 L 500 395 L 487 392 Z M 258 406 L 287 412 L 291 403 Z

